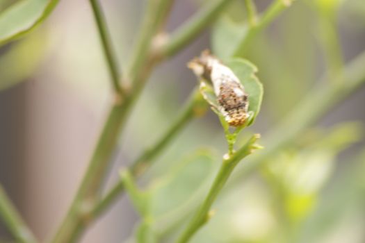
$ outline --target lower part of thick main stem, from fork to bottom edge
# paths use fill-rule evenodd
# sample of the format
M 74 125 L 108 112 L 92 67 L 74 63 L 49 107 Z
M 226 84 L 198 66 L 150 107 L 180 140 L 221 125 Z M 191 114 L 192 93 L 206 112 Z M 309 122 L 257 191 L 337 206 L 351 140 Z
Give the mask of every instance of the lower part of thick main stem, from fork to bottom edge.
M 99 197 L 104 176 L 127 117 L 127 108 L 127 104 L 115 104 L 111 109 L 79 191 L 52 242 L 75 242 L 90 223 L 89 211 Z

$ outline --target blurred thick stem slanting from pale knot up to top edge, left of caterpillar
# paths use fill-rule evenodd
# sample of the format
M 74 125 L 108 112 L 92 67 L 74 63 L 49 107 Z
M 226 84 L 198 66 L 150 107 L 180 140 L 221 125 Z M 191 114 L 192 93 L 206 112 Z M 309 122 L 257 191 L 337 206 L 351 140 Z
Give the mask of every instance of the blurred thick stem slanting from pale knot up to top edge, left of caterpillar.
M 216 0 L 200 10 L 172 34 L 170 41 L 161 48 L 162 57 L 173 56 L 188 42 L 193 40 L 202 30 L 211 24 L 232 0 Z

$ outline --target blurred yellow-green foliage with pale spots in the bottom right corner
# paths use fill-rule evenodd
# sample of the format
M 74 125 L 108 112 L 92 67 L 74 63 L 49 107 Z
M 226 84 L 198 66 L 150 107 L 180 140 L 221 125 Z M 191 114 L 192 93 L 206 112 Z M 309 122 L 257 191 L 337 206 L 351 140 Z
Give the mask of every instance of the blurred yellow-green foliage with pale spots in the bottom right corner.
M 225 194 L 218 203 L 216 218 L 193 242 L 322 242 L 316 233 L 320 230 L 318 227 L 323 224 L 321 234 L 325 229 L 328 233 L 333 222 L 321 221 L 323 218 L 316 215 L 318 209 L 322 208 L 319 212 L 322 214 L 328 210 L 323 208 L 323 203 L 334 203 L 337 208 L 332 206 L 325 215 L 335 217 L 339 207 L 346 210 L 348 200 L 359 196 L 353 189 L 357 188 L 358 193 L 361 187 L 356 183 L 353 187 L 353 180 L 348 177 L 355 168 L 346 169 L 348 172 L 339 180 L 350 184 L 336 184 L 350 191 L 339 193 L 333 189 L 332 196 L 339 199 L 330 201 L 323 201 L 326 198 L 321 194 L 334 174 L 338 153 L 363 139 L 363 126 L 349 122 L 332 128 L 316 128 L 311 134 L 310 142 L 305 138 L 305 147 L 304 141 L 300 141 L 275 156 L 268 167 L 261 170 L 261 179 L 252 178 Z M 364 156 L 359 161 L 363 159 Z M 362 174 L 358 166 L 355 165 L 357 174 Z M 356 181 L 359 178 L 362 176 L 352 177 Z M 343 198 L 346 195 L 352 196 Z

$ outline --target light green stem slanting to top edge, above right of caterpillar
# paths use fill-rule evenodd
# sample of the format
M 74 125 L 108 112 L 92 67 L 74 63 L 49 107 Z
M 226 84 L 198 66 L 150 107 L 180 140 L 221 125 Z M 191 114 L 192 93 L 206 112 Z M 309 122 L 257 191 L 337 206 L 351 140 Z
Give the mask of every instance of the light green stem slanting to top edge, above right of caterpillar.
M 255 37 L 259 32 L 263 30 L 263 28 L 266 28 L 268 24 L 273 22 L 273 19 L 277 17 L 283 10 L 288 8 L 293 0 L 276 0 L 274 1 L 265 12 L 263 12 L 263 15 L 259 17 L 259 20 L 257 21 L 257 24 L 254 26 L 250 26 L 248 28 L 248 32 L 245 33 L 243 36 L 241 42 L 238 44 L 238 47 L 236 48 L 236 51 L 234 51 L 233 56 L 242 56 L 243 53 L 245 53 L 248 43 L 252 40 L 253 37 Z

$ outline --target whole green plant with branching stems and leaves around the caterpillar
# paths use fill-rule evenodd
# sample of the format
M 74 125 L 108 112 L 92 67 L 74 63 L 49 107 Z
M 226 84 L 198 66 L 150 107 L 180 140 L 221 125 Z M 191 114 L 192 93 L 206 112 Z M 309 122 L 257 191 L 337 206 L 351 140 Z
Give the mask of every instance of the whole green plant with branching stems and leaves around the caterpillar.
M 246 132 L 248 126 L 254 123 L 261 107 L 263 87 L 256 76 L 257 67 L 242 57 L 250 56 L 250 47 L 257 44 L 255 40 L 261 40 L 262 43 L 259 44 L 262 48 L 259 51 L 263 52 L 262 55 L 265 58 L 279 57 L 275 50 L 270 49 L 267 43 L 262 41 L 265 38 L 260 39 L 260 35 L 265 35 L 264 29 L 280 13 L 291 6 L 293 3 L 291 0 L 275 0 L 260 14 L 256 10 L 254 1 L 245 0 L 245 16 L 247 17 L 238 19 L 238 21 L 233 20 L 232 16 L 222 13 L 232 12 L 229 9 L 230 5 L 239 3 L 230 0 L 209 1 L 171 34 L 165 33 L 164 28 L 173 1 L 148 0 L 144 10 L 144 19 L 138 30 L 138 41 L 127 67 L 123 69 L 117 62 L 102 8 L 97 0 L 90 0 L 101 47 L 108 65 L 114 103 L 111 104 L 106 123 L 70 210 L 50 242 L 63 243 L 79 240 L 92 221 L 97 220 L 124 191 L 128 192 L 133 206 L 140 213 L 141 221 L 136 230 L 137 242 L 161 242 L 165 239 L 188 242 L 213 216 L 211 206 L 236 167 L 236 173 L 232 174 L 232 180 L 228 183 L 226 192 L 229 191 L 228 189 L 234 191 L 236 183 L 242 182 L 243 178 L 250 176 L 252 172 L 260 171 L 263 183 L 269 185 L 268 190 L 273 194 L 273 204 L 275 204 L 273 212 L 279 221 L 277 228 L 280 233 L 283 233 L 268 235 L 281 242 L 299 241 L 301 234 L 305 235 L 301 229 L 305 228 L 307 215 L 313 212 L 316 202 L 319 200 L 319 192 L 327 181 L 327 175 L 331 172 L 330 168 L 334 164 L 336 154 L 360 139 L 357 134 L 361 128 L 353 124 L 345 124 L 343 127 L 333 128 L 334 131 L 325 133 L 325 135 L 318 135 L 315 131 L 307 140 L 305 132 L 327 111 L 355 92 L 365 81 L 365 69 L 363 68 L 365 53 L 360 53 L 348 64 L 343 64 L 334 21 L 339 3 L 325 0 L 305 2 L 309 8 L 317 12 L 320 24 L 318 32 L 321 33 L 318 43 L 323 49 L 327 72 L 319 85 L 315 85 L 313 90 L 308 90 L 298 105 L 291 108 L 292 111 L 289 114 L 279 115 L 280 118 L 281 116 L 285 116 L 285 118 L 280 120 L 277 126 L 263 138 L 262 144 L 265 149 L 249 156 L 254 150 L 262 148 L 256 143 L 259 135 L 252 135 L 245 144 L 241 145 L 240 133 L 244 131 L 245 134 L 248 134 Z M 0 43 L 6 44 L 31 31 L 47 18 L 57 3 L 58 1 L 52 0 L 13 3 L 0 15 Z M 200 75 L 198 77 L 200 87 L 192 92 L 185 108 L 181 109 L 177 115 L 177 119 L 171 122 L 170 127 L 154 146 L 143 151 L 129 168 L 121 171 L 120 181 L 111 187 L 111 190 L 102 194 L 102 185 L 106 181 L 106 171 L 111 164 L 113 151 L 133 105 L 140 97 L 150 74 L 157 65 L 175 56 L 210 25 L 213 25 L 211 38 L 213 54 L 219 58 L 217 60 L 221 60 L 222 65 L 226 65 L 232 70 L 243 85 L 244 92 L 248 94 L 245 121 L 232 131 L 226 117 L 227 114 L 220 109 L 222 104 L 217 102 L 217 94 L 214 92 L 214 87 L 211 87 L 211 83 L 213 86 L 215 85 L 214 81 L 209 80 L 210 78 L 203 74 Z M 13 47 L 14 52 L 18 48 L 21 49 L 22 44 L 20 42 L 17 44 L 19 47 Z M 268 48 L 265 49 L 265 47 Z M 19 51 L 18 55 L 22 55 L 22 51 Z M 0 63 L 8 63 L 11 58 L 14 58 L 13 56 L 8 54 L 2 56 Z M 253 59 L 257 58 L 260 62 L 259 56 L 259 54 L 252 55 Z M 38 58 L 36 59 L 38 60 Z M 295 70 L 279 67 L 280 63 L 277 62 L 270 62 L 270 64 L 278 66 L 274 67 L 276 72 L 285 73 L 282 76 L 293 75 L 292 72 Z M 35 65 L 36 62 L 30 60 L 30 64 Z M 25 66 L 29 67 L 29 64 Z M 258 67 L 260 70 L 266 68 Z M 203 73 L 206 73 L 204 65 L 197 68 L 202 68 Z M 16 71 L 16 68 L 5 69 L 4 79 L 7 82 L 0 87 L 8 87 L 11 83 L 16 83 L 31 73 L 24 71 L 24 74 L 18 74 Z M 293 76 L 286 79 L 291 81 L 292 78 Z M 289 82 L 284 83 L 285 88 L 290 85 Z M 285 97 L 280 97 L 280 94 L 276 95 L 273 103 L 277 106 L 274 110 L 278 110 L 279 113 L 279 102 L 283 101 Z M 284 100 L 284 102 L 288 101 Z M 145 189 L 141 190 L 136 185 L 138 177 L 153 165 L 156 158 L 163 153 L 166 146 L 179 135 L 187 124 L 195 117 L 204 115 L 209 106 L 218 115 L 228 144 L 227 154 L 223 156 L 216 178 L 211 181 L 213 160 L 217 156 L 213 156 L 211 151 L 198 151 L 193 156 L 181 160 L 176 168 L 166 172 L 159 182 L 149 183 Z M 325 137 L 331 137 L 331 139 L 326 140 Z M 236 146 L 236 151 L 234 146 Z M 241 162 L 246 156 L 249 157 L 238 165 L 238 162 Z M 321 165 L 314 163 L 316 168 L 323 169 L 325 172 L 321 175 L 321 180 L 310 190 L 298 182 L 298 178 L 301 176 L 298 171 L 305 171 L 307 168 L 305 162 L 302 162 L 304 160 L 325 161 Z M 311 165 L 311 163 L 307 164 L 307 166 Z M 194 183 L 187 183 L 186 178 L 190 178 Z M 286 178 L 290 178 L 290 180 Z M 210 187 L 209 184 L 211 184 Z M 175 195 L 174 190 L 179 187 L 183 188 L 181 194 Z M 168 197 L 171 197 L 170 201 L 166 202 Z M 199 202 L 201 205 L 197 206 L 200 204 Z M 19 242 L 36 242 L 35 237 L 11 206 L 3 190 L 0 193 L 0 215 Z M 186 215 L 190 217 L 186 217 Z M 189 219 L 190 221 L 188 221 Z M 160 225 L 163 227 L 159 227 Z M 181 229 L 183 229 L 182 232 Z M 200 239 L 199 237 L 198 235 L 197 239 Z M 270 242 L 270 238 L 265 237 L 269 236 L 264 235 L 263 239 L 259 239 L 260 242 Z M 232 239 L 229 238 L 229 242 L 243 242 L 240 240 L 234 238 L 234 234 L 232 234 Z

